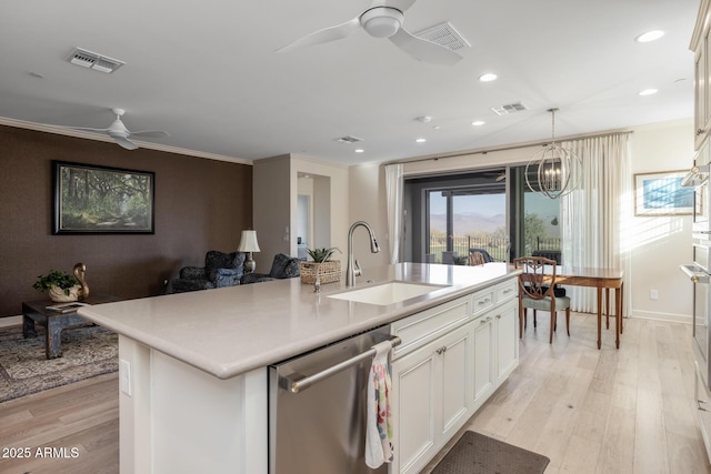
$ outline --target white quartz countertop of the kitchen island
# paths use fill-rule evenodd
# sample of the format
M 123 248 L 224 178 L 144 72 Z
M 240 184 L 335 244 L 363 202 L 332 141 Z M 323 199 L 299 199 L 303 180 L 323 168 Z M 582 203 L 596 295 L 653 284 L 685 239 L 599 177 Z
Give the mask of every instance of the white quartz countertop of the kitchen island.
M 169 294 L 86 306 L 79 314 L 217 377 L 229 379 L 388 324 L 503 281 L 505 263 L 459 266 L 399 263 L 363 270 L 354 288 L 300 279 Z M 388 281 L 443 285 L 400 303 L 377 305 L 329 297 Z

